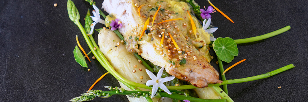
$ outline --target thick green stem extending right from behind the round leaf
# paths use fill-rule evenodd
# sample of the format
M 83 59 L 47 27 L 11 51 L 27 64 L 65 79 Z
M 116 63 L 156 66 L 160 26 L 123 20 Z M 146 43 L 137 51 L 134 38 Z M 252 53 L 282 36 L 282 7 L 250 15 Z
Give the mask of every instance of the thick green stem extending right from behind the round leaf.
M 267 38 L 276 36 L 278 34 L 281 34 L 283 32 L 286 32 L 290 28 L 291 28 L 290 25 L 288 25 L 288 26 L 283 27 L 281 29 L 278 29 L 278 30 L 276 30 L 274 32 L 270 32 L 270 33 L 267 33 L 267 34 L 264 34 L 264 35 L 261 35 L 261 36 L 255 36 L 255 37 L 250 37 L 250 38 L 245 38 L 245 39 L 237 39 L 237 40 L 234 40 L 234 41 L 235 41 L 236 44 L 250 43 L 250 42 L 254 42 L 254 41 L 259 41 L 259 40 L 267 39 Z

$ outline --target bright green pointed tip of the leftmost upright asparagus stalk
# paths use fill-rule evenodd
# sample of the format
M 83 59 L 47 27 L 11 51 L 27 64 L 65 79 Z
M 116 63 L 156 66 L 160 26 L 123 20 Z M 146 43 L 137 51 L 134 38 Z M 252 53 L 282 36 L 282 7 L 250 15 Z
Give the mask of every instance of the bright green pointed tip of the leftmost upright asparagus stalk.
M 67 0 L 67 12 L 68 17 L 70 17 L 71 21 L 73 21 L 77 25 L 76 21 L 80 19 L 80 15 L 74 2 L 71 0 Z

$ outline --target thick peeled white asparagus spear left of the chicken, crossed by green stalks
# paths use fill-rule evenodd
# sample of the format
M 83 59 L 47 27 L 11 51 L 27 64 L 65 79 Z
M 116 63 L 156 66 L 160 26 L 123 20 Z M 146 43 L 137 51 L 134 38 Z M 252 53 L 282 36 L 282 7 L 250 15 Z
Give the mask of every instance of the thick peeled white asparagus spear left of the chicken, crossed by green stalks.
M 119 43 L 119 45 L 118 45 Z M 105 55 L 111 66 L 126 79 L 144 84 L 148 80 L 151 80 L 145 71 L 145 67 L 138 62 L 138 59 L 129 53 L 124 44 L 121 43 L 120 38 L 110 29 L 102 29 L 98 35 L 98 44 L 100 51 Z M 135 68 L 136 66 L 136 68 Z M 139 70 L 141 69 L 141 71 Z M 143 78 L 141 78 L 141 76 Z M 131 90 L 119 81 L 122 88 L 125 90 Z M 142 91 L 151 91 L 149 89 L 141 89 Z M 128 97 L 128 96 L 127 96 Z M 146 102 L 144 97 L 132 98 L 128 97 L 130 102 Z M 152 98 L 153 102 L 170 102 L 171 98 L 155 99 Z

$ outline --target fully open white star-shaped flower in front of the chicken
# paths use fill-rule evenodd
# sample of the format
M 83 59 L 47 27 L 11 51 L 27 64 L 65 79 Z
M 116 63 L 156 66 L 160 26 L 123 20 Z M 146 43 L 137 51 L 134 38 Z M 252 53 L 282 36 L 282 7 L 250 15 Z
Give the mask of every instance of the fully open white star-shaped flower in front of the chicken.
M 151 98 L 153 98 L 153 96 L 156 94 L 158 87 L 160 87 L 160 89 L 164 90 L 169 95 L 172 94 L 172 93 L 170 93 L 170 91 L 167 89 L 167 87 L 163 83 L 173 80 L 174 77 L 160 78 L 161 75 L 163 74 L 165 66 L 160 68 L 160 70 L 157 73 L 157 76 L 155 76 L 151 71 L 149 71 L 147 69 L 145 70 L 147 72 L 147 74 L 149 75 L 149 77 L 152 79 L 152 80 L 148 80 L 147 83 L 146 83 L 147 86 L 153 85 Z

